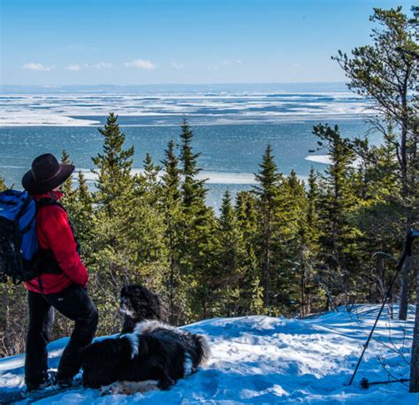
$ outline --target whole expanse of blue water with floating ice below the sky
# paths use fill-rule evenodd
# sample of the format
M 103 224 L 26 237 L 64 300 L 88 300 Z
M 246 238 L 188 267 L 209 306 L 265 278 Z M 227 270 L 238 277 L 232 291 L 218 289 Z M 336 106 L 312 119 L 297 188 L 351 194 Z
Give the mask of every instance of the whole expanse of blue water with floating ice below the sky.
M 342 84 L 265 84 L 156 87 L 4 87 L 0 94 L 0 174 L 20 185 L 34 157 L 63 149 L 77 168 L 90 174 L 91 157 L 101 152 L 103 126 L 110 111 L 133 145 L 133 168 L 146 153 L 156 163 L 171 139 L 179 144 L 179 124 L 187 117 L 200 152 L 202 175 L 209 178 L 208 203 L 219 207 L 226 189 L 232 194 L 254 183 L 266 145 L 272 146 L 278 170 L 302 179 L 306 160 L 316 149 L 312 127 L 339 124 L 341 134 L 365 134 L 363 118 L 370 100 L 347 92 Z M 372 141 L 379 141 L 378 135 Z M 324 155 L 316 150 L 315 155 Z

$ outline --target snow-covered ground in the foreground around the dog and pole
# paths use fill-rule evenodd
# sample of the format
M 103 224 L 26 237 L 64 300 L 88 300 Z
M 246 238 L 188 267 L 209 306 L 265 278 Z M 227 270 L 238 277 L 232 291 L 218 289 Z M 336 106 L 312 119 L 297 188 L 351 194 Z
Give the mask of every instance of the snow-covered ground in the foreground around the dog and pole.
M 180 380 L 170 391 L 133 396 L 101 397 L 96 390 L 77 389 L 37 403 L 113 404 L 137 403 L 289 403 L 289 404 L 419 404 L 419 394 L 408 386 L 359 385 L 369 381 L 408 378 L 414 316 L 391 320 L 385 309 L 374 340 L 364 356 L 353 386 L 346 386 L 374 319 L 377 306 L 362 305 L 351 312 L 320 317 L 235 317 L 204 320 L 187 325 L 206 334 L 212 358 L 193 376 Z M 67 339 L 50 343 L 50 367 L 57 362 Z M 23 386 L 24 356 L 0 360 L 0 393 Z

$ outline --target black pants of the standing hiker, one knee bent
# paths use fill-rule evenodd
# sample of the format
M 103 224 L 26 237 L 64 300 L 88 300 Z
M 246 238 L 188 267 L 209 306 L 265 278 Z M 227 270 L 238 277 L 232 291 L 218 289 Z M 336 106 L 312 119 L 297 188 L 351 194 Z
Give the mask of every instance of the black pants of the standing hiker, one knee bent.
M 75 322 L 72 336 L 58 365 L 59 378 L 72 378 L 80 371 L 80 349 L 95 336 L 98 314 L 86 289 L 73 284 L 55 294 L 28 291 L 29 328 L 25 379 L 27 383 L 42 383 L 47 377 L 47 343 L 51 340 L 54 308 Z

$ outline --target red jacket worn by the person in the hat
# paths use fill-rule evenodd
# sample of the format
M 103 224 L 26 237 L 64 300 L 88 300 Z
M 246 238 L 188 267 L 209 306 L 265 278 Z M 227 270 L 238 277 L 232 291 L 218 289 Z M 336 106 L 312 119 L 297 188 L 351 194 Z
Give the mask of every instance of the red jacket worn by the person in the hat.
M 59 200 L 62 193 L 46 193 L 33 195 L 33 198 L 55 198 Z M 36 212 L 36 235 L 40 248 L 50 249 L 54 254 L 61 270 L 60 274 L 41 274 L 42 288 L 38 278 L 27 281 L 25 287 L 28 290 L 41 294 L 58 293 L 72 283 L 81 287 L 88 284 L 88 271 L 81 263 L 80 256 L 76 251 L 76 242 L 72 235 L 72 228 L 65 210 L 57 205 L 45 205 Z

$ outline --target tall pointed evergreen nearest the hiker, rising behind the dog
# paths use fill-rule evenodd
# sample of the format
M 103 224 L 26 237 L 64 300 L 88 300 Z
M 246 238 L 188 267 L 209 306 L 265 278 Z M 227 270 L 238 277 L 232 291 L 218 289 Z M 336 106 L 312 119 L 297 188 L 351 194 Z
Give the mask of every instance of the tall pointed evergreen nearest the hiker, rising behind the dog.
M 120 287 L 138 280 L 138 245 L 136 234 L 139 202 L 131 175 L 133 147 L 125 149 L 125 135 L 120 132 L 118 117 L 110 113 L 104 128 L 103 153 L 93 158 L 97 176 L 93 202 L 95 239 L 92 241 L 92 284 L 95 302 L 104 314 L 102 327 L 116 331 L 116 303 L 110 297 L 118 296 Z M 83 189 L 83 188 L 81 188 Z M 112 328 L 113 323 L 113 328 Z M 109 329 L 110 328 L 110 329 Z

